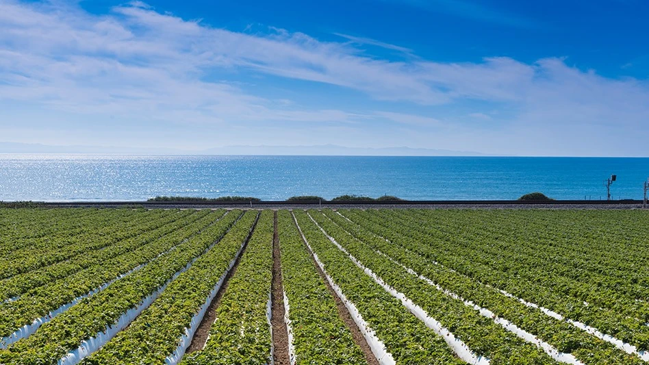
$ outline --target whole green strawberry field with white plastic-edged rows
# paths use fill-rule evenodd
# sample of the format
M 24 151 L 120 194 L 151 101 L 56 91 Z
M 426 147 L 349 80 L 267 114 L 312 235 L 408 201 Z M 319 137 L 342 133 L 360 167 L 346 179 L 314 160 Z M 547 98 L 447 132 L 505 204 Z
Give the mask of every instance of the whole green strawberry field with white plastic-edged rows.
M 0 364 L 649 364 L 649 216 L 1 209 Z

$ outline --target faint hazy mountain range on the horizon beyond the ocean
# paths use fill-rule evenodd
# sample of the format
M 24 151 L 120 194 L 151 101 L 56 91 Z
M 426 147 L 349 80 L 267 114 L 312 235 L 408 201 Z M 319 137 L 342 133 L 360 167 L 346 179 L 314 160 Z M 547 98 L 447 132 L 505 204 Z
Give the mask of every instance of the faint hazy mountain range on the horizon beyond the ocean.
M 114 155 L 377 155 L 377 156 L 480 156 L 474 151 L 416 149 L 410 147 L 316 146 L 225 146 L 200 151 L 147 147 L 51 146 L 20 142 L 0 142 L 0 153 L 84 153 Z

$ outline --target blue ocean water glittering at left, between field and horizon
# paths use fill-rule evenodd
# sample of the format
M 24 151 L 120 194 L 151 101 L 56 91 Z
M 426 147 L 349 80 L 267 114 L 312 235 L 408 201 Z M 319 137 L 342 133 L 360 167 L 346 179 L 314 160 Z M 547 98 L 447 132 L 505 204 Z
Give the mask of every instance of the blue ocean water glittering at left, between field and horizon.
M 157 195 L 283 200 L 641 199 L 649 158 L 0 155 L 0 200 L 140 201 Z

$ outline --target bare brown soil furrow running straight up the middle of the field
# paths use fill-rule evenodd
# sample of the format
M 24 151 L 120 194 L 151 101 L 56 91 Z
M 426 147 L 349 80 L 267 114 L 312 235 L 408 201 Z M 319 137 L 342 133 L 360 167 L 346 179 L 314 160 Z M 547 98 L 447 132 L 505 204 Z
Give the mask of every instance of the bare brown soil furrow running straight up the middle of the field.
M 284 322 L 284 288 L 281 280 L 281 251 L 277 232 L 277 211 L 272 234 L 272 284 L 270 286 L 270 324 L 272 325 L 273 360 L 275 365 L 290 365 L 288 354 L 288 329 Z

